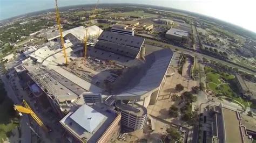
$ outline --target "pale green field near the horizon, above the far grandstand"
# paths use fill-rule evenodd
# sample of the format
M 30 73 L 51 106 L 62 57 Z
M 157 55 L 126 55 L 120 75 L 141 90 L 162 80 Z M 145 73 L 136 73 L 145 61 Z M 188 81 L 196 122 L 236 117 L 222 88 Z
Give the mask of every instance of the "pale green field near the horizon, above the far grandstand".
M 157 15 L 153 15 L 151 13 L 145 13 L 144 11 L 129 11 L 129 12 L 118 12 L 118 13 L 111 13 L 109 15 L 110 17 L 128 17 L 128 16 L 134 16 L 134 17 L 139 17 L 139 16 L 143 16 L 143 17 L 154 17 Z

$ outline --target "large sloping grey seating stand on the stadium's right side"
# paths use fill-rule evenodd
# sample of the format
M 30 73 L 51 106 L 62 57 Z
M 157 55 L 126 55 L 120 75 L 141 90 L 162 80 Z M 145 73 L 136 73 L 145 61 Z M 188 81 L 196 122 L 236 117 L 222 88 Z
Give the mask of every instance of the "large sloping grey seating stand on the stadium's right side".
M 126 81 L 127 85 L 124 85 L 126 88 L 117 90 L 114 96 L 117 98 L 137 96 L 139 99 L 140 96 L 158 88 L 169 67 L 172 55 L 173 52 L 170 49 L 161 49 L 147 55 L 144 64 L 140 63 L 131 69 L 130 75 L 134 77 Z

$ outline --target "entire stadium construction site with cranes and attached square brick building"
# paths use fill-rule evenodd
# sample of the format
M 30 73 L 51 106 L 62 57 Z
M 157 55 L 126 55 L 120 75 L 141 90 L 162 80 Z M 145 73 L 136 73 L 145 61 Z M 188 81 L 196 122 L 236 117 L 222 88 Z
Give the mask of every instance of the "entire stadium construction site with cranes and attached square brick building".
M 34 52 L 25 51 L 26 59 L 15 67 L 22 89 L 44 108 L 30 108 L 24 101 L 15 109 L 29 114 L 47 132 L 46 138 L 58 132 L 46 120 L 57 121 L 63 142 L 110 142 L 120 132 L 142 130 L 149 120 L 147 106 L 157 101 L 173 52 L 152 51 L 144 38 L 95 25 L 62 32 L 57 1 L 56 13 L 59 33 L 48 33 L 48 42 Z

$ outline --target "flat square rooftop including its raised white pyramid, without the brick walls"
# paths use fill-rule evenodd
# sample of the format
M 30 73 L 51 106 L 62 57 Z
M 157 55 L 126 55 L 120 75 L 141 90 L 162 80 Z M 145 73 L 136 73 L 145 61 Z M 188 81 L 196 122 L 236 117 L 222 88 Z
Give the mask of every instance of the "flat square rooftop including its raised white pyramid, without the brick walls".
M 68 113 L 60 124 L 82 141 L 97 142 L 119 116 L 117 111 L 104 103 L 80 106 L 76 111 Z

